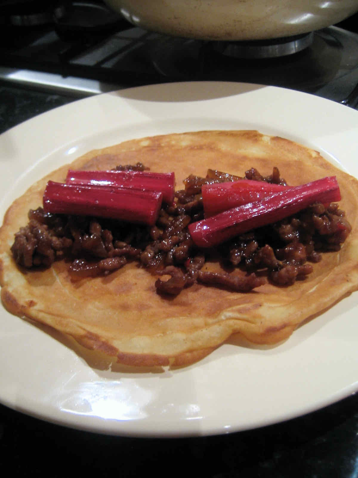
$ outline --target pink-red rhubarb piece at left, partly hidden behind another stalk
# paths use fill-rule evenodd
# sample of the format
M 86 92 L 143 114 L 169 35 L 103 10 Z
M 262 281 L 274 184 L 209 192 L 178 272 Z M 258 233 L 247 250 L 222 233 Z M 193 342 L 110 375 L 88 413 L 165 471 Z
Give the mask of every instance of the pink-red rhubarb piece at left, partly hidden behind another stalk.
M 149 171 L 75 171 L 69 170 L 67 184 L 88 184 L 117 186 L 143 191 L 159 191 L 163 201 L 172 204 L 174 200 L 174 173 L 152 173 Z

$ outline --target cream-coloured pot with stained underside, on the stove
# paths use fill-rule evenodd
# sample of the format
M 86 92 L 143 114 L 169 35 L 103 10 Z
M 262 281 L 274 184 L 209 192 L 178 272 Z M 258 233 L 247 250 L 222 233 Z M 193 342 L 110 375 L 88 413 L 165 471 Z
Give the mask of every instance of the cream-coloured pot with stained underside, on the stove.
M 144 30 L 204 41 L 252 41 L 314 32 L 358 11 L 358 0 L 105 0 Z

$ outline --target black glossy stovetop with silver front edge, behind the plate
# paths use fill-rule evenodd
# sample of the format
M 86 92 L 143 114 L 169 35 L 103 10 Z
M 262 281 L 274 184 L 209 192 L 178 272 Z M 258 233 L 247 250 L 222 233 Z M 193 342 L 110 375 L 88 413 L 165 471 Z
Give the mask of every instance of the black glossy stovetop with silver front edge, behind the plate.
M 144 31 L 113 12 L 108 19 L 96 10 L 95 21 L 93 12 L 84 15 L 79 5 L 97 9 L 97 3 L 70 3 L 76 5 L 71 15 L 58 14 L 52 22 L 3 25 L 2 82 L 81 97 L 153 83 L 227 80 L 288 87 L 335 101 L 346 98 L 358 83 L 354 21 L 314 32 L 312 43 L 294 54 L 242 58 L 222 54 L 225 42 Z

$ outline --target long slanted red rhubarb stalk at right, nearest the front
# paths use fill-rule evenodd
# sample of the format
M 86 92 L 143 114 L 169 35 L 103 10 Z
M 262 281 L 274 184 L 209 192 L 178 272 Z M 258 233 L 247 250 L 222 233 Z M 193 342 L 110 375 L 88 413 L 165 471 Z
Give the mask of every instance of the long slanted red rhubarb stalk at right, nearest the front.
M 301 186 L 283 188 L 260 201 L 237 206 L 188 226 L 196 246 L 214 247 L 251 229 L 266 226 L 296 214 L 319 201 L 324 204 L 341 199 L 335 176 Z

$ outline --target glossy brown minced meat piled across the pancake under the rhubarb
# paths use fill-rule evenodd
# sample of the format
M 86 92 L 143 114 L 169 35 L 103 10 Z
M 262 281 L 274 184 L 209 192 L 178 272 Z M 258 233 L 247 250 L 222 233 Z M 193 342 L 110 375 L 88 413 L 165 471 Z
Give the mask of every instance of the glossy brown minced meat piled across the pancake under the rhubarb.
M 137 163 L 116 169 L 146 168 Z M 286 185 L 275 167 L 267 177 L 254 168 L 244 177 Z M 237 179 L 214 170 L 205 178 L 189 176 L 184 189 L 175 193 L 174 205 L 163 205 L 152 227 L 49 214 L 39 207 L 29 211 L 29 223 L 15 234 L 11 251 L 25 268 L 49 267 L 58 259 L 72 258 L 69 273 L 73 280 L 108 274 L 128 261 L 139 261 L 159 276 L 155 282 L 158 293 L 177 295 L 195 282 L 247 292 L 265 282 L 264 271 L 269 281 L 291 285 L 313 271 L 312 263 L 320 261 L 322 253 L 339 250 L 346 240 L 351 228 L 344 211 L 336 204 L 325 207 L 315 203 L 294 217 L 240 235 L 218 250 L 198 250 L 187 226 L 204 217 L 202 185 Z M 206 261 L 213 258 L 234 272 L 203 270 Z

